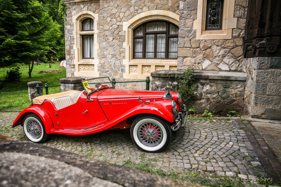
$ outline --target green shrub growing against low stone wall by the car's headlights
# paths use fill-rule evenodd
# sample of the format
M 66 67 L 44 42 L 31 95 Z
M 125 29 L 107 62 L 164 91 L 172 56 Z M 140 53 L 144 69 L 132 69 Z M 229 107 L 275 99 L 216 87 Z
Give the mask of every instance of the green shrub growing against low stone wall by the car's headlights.
M 176 92 L 181 94 L 181 99 L 184 103 L 194 96 L 194 89 L 197 86 L 197 83 L 194 82 L 194 78 L 192 76 L 193 71 L 194 69 L 189 67 L 183 74 L 174 76 L 181 82 L 178 85 Z

